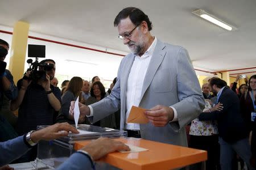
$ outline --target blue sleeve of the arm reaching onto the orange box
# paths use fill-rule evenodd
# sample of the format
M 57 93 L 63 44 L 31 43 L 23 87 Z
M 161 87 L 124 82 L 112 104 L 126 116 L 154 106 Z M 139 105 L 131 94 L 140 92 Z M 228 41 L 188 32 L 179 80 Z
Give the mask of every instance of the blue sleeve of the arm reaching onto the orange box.
M 65 169 L 94 169 L 93 162 L 90 160 L 89 156 L 82 154 L 80 152 L 76 152 L 72 154 L 63 164 L 61 164 L 57 170 L 65 170 Z

